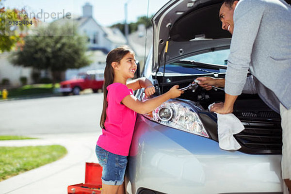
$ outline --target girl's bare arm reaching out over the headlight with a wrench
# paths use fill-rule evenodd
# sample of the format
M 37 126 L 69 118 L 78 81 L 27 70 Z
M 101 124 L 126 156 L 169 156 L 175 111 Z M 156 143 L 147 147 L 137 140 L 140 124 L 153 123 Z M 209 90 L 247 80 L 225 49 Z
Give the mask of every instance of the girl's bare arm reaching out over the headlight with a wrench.
M 178 85 L 173 86 L 168 92 L 146 101 L 140 101 L 133 95 L 128 95 L 124 97 L 121 102 L 129 109 L 135 111 L 136 113 L 145 114 L 149 113 L 158 106 L 160 106 L 163 102 L 167 101 L 170 98 L 179 97 L 183 91 L 178 89 Z

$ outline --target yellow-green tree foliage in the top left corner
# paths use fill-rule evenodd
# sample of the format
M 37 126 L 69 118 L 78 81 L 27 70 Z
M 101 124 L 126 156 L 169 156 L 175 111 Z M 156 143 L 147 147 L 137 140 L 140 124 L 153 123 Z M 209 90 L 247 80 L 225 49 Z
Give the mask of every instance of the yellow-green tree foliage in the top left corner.
M 13 25 L 15 22 L 25 22 L 26 25 Z M 31 23 L 29 23 L 32 21 Z M 23 46 L 23 37 L 26 31 L 36 23 L 36 19 L 30 19 L 25 14 L 25 10 L 6 9 L 0 0 L 0 53 L 10 51 Z

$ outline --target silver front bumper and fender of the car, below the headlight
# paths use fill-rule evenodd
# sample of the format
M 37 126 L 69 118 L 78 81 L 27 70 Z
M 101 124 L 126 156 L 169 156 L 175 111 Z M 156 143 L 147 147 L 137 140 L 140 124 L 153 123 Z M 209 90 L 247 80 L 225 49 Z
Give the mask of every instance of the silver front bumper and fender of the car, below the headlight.
M 282 192 L 281 155 L 226 151 L 217 142 L 138 115 L 129 153 L 129 186 L 165 194 Z

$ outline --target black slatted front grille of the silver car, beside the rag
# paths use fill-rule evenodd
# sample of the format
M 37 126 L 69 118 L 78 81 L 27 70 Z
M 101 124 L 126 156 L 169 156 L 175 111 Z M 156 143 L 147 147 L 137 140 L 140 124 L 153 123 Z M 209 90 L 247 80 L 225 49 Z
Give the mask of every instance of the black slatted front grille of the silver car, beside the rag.
M 244 130 L 234 137 L 240 143 L 240 151 L 249 154 L 281 154 L 281 118 L 274 111 L 234 113 Z

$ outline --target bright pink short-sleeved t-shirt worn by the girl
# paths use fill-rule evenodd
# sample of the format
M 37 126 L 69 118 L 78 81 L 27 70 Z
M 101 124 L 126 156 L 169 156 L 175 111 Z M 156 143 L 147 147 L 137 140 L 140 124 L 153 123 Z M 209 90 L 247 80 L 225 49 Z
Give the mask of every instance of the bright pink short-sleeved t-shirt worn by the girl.
M 136 112 L 123 105 L 121 100 L 133 93 L 122 83 L 112 83 L 107 90 L 105 129 L 102 129 L 97 145 L 113 154 L 128 156 Z

